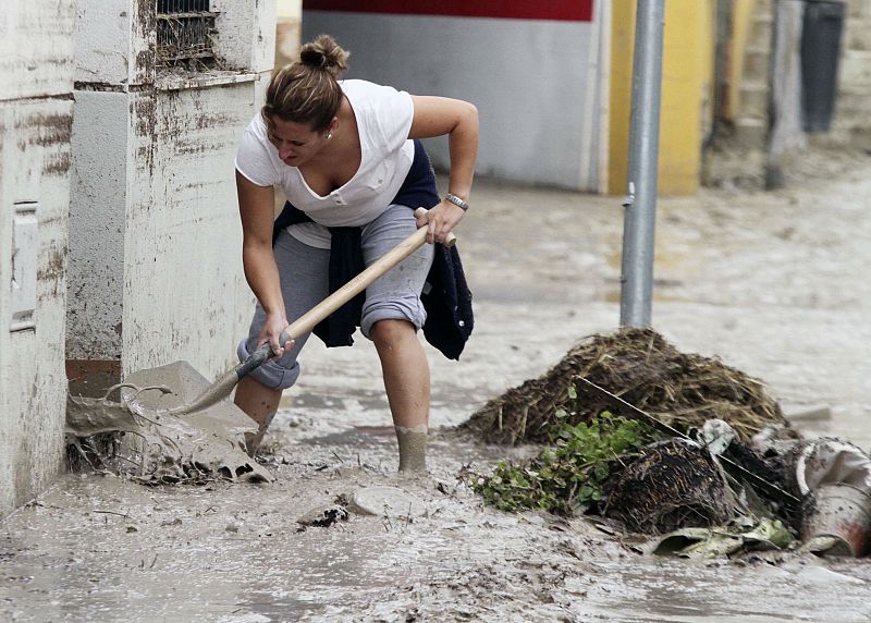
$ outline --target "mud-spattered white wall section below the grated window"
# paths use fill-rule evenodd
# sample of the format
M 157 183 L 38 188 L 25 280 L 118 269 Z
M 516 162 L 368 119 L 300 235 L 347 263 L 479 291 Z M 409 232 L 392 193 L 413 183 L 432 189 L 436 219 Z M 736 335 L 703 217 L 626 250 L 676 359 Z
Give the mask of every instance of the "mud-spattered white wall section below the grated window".
M 253 312 L 233 158 L 259 90 L 77 91 L 69 358 L 229 365 Z

